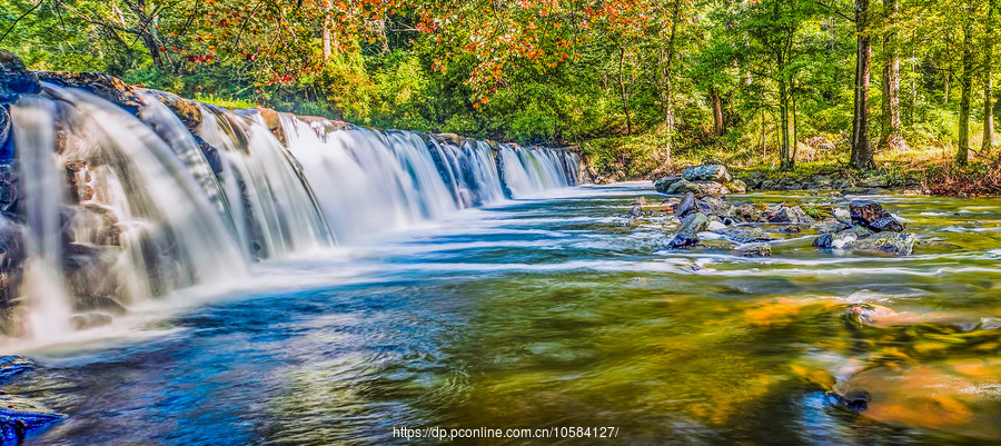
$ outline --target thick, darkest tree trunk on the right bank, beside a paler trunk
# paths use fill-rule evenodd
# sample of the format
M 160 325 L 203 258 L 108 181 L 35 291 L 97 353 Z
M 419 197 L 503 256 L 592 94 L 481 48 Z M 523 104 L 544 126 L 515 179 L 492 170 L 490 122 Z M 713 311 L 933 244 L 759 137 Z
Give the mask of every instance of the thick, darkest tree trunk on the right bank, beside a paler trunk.
M 852 159 L 856 169 L 871 169 L 869 143 L 869 81 L 872 70 L 872 41 L 869 37 L 869 0 L 855 0 L 855 110 L 852 119 Z

